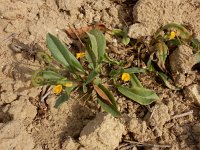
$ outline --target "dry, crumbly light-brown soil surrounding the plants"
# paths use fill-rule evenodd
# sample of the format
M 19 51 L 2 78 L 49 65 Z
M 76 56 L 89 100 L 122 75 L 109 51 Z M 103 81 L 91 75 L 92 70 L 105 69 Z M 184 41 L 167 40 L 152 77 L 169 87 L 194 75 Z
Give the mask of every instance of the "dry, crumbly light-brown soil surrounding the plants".
M 195 72 L 192 84 L 196 85 L 191 87 L 198 88 L 187 87 L 185 94 L 165 88 L 154 76 L 139 75 L 143 85 L 154 89 L 160 100 L 147 108 L 116 94 L 123 117 L 114 119 L 100 113 L 94 102 L 80 100 L 78 93 L 59 109 L 53 107 L 53 94 L 41 101 L 45 88 L 30 85 L 31 74 L 40 64 L 29 57 L 30 49 L 16 53 L 16 49 L 8 47 L 14 37 L 30 47 L 34 42 L 47 50 L 47 32 L 70 44 L 71 39 L 63 32 L 69 24 L 78 28 L 99 22 L 108 28 L 123 28 L 137 22 L 130 27 L 132 37 L 150 35 L 167 22 L 186 23 L 199 37 L 199 0 L 140 0 L 134 7 L 129 0 L 0 3 L 0 149 L 111 150 L 122 146 L 124 140 L 168 144 L 172 147 L 166 149 L 172 150 L 200 149 L 199 72 Z M 191 110 L 190 115 L 176 117 Z

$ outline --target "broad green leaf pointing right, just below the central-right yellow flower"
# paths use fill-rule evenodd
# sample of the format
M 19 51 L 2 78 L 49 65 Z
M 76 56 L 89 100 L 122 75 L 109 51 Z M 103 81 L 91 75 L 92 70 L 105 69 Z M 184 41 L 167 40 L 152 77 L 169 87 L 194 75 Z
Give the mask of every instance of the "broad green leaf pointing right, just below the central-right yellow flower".
M 154 91 L 143 87 L 127 88 L 119 85 L 117 89 L 121 94 L 141 105 L 149 105 L 159 99 Z

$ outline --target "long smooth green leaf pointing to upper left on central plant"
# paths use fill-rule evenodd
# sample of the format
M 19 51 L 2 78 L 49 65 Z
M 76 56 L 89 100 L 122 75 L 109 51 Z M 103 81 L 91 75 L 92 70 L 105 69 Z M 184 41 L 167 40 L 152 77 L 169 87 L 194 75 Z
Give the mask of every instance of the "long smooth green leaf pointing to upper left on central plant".
M 46 37 L 47 47 L 52 56 L 61 64 L 69 67 L 71 71 L 85 72 L 79 61 L 74 55 L 52 34 L 48 33 Z

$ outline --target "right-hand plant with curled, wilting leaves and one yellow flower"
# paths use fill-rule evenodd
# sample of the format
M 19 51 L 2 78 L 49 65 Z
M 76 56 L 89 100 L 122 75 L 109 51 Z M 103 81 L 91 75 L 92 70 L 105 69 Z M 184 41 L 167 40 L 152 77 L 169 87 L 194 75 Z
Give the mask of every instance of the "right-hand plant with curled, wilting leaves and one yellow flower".
M 166 68 L 166 60 L 170 53 L 172 53 L 179 45 L 186 44 L 193 48 L 194 57 L 196 63 L 200 63 L 200 42 L 193 34 L 191 34 L 184 26 L 169 23 L 155 33 L 150 43 L 153 52 L 149 56 L 147 62 L 147 68 L 149 71 L 156 71 L 155 65 L 158 66 L 156 73 L 164 84 L 172 90 L 180 90 L 180 87 L 176 87 L 169 82 L 170 77 L 167 74 L 170 69 Z

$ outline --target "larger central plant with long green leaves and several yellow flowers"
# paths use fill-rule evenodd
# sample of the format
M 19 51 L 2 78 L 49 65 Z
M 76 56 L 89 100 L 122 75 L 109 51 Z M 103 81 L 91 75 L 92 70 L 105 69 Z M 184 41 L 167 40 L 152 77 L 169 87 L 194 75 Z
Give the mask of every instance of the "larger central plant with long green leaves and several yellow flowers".
M 123 34 L 122 37 L 127 38 L 127 35 Z M 105 65 L 110 66 L 109 78 L 112 81 L 112 88 L 117 89 L 122 95 L 141 105 L 148 105 L 159 99 L 153 90 L 144 88 L 135 75 L 146 72 L 146 69 L 125 68 L 123 64 L 108 57 L 106 39 L 101 31 L 91 30 L 84 41 L 85 51 L 74 56 L 61 41 L 48 33 L 46 43 L 51 56 L 45 53 L 38 54 L 45 62 L 45 66 L 34 73 L 32 83 L 35 86 L 54 86 L 53 92 L 58 95 L 56 108 L 67 101 L 73 91 L 82 89 L 83 94 L 95 91 L 99 105 L 113 116 L 120 116 L 111 90 L 102 82 L 102 79 L 108 78 L 108 75 L 102 73 Z M 128 43 L 129 40 L 124 44 Z M 116 68 L 114 66 L 118 69 L 113 69 Z M 127 85 L 129 81 L 130 87 L 123 85 Z

